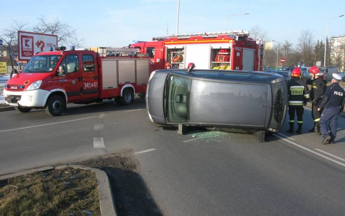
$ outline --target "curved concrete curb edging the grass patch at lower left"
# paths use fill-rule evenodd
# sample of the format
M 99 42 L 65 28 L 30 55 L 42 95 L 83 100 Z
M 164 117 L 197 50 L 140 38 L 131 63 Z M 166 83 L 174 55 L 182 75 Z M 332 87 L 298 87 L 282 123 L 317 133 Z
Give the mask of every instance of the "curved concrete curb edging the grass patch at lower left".
M 112 193 L 112 190 L 111 190 L 110 180 L 108 178 L 107 173 L 100 169 L 85 167 L 81 165 L 73 165 L 73 164 L 70 164 L 68 166 L 63 165 L 59 167 L 47 166 L 47 167 L 40 167 L 40 168 L 31 169 L 27 171 L 12 173 L 8 175 L 2 175 L 0 176 L 0 180 L 14 178 L 20 175 L 30 174 L 33 172 L 42 172 L 42 171 L 48 171 L 48 170 L 53 170 L 53 169 L 57 169 L 57 170 L 65 169 L 67 167 L 74 168 L 74 169 L 89 170 L 95 173 L 96 178 L 97 178 L 97 184 L 98 184 L 99 207 L 101 210 L 101 215 L 102 216 L 108 216 L 108 215 L 117 216 L 116 207 L 115 207 L 115 199 L 114 199 L 114 194 Z

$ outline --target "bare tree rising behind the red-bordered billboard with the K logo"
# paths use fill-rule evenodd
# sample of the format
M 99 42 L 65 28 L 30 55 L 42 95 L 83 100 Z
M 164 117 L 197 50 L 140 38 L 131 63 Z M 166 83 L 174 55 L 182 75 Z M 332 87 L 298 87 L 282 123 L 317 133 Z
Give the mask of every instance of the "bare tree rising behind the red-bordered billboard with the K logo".
M 38 21 L 38 24 L 33 27 L 33 31 L 42 34 L 57 35 L 58 43 L 62 45 L 67 45 L 69 40 L 76 36 L 76 30 L 72 29 L 67 23 L 59 20 L 59 18 L 50 21 L 41 15 Z

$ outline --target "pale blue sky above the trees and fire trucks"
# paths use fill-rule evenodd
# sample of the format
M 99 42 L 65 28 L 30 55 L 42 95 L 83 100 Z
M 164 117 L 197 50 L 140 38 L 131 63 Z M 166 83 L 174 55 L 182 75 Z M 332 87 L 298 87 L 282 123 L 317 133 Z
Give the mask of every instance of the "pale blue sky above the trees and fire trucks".
M 58 18 L 86 38 L 83 47 L 123 47 L 133 41 L 151 41 L 152 37 L 177 33 L 177 0 L 1 0 L 0 31 L 13 21 L 38 23 L 41 15 Z M 6 6 L 7 5 L 7 6 Z M 178 33 L 219 32 L 250 29 L 257 25 L 267 32 L 265 41 L 285 40 L 298 45 L 303 30 L 313 32 L 314 41 L 325 40 L 326 22 L 345 14 L 345 1 L 321 0 L 180 0 Z M 1 34 L 1 32 L 0 32 Z M 345 16 L 331 20 L 327 36 L 345 35 Z

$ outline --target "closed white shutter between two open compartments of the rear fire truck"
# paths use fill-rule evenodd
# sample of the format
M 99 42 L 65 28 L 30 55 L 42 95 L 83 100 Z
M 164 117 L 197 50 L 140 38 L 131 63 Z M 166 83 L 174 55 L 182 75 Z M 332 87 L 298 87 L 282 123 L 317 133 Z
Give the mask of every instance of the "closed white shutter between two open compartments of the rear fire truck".
M 193 62 L 195 69 L 210 68 L 210 50 L 208 44 L 205 45 L 186 45 L 185 64 Z

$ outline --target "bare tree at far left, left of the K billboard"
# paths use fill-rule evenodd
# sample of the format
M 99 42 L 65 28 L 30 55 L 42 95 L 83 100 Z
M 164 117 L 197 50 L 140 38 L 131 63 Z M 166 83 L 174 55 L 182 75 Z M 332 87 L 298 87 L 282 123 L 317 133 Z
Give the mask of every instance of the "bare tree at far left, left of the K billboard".
M 13 49 L 15 46 L 18 46 L 18 31 L 26 30 L 25 28 L 27 25 L 27 24 L 18 23 L 16 20 L 13 20 L 13 23 L 14 24 L 9 29 L 3 29 L 2 30 L 3 33 L 0 36 L 0 38 L 5 44 L 4 46 L 7 49 L 8 56 L 11 61 L 12 70 L 11 70 L 10 77 L 12 77 L 13 72 L 17 73 L 17 70 L 14 69 L 13 67 L 13 55 L 14 55 Z

